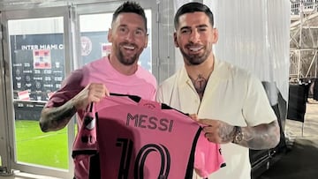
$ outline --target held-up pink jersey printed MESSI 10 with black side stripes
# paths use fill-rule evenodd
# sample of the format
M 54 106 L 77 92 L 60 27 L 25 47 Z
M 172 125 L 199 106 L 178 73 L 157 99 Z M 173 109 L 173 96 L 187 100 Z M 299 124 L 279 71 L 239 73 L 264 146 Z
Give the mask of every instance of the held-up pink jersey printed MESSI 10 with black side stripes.
M 223 165 L 220 146 L 207 145 L 200 125 L 168 106 L 136 96 L 110 96 L 95 111 L 102 179 L 192 178 L 195 166 L 205 176 Z M 210 150 L 198 161 L 196 145 Z

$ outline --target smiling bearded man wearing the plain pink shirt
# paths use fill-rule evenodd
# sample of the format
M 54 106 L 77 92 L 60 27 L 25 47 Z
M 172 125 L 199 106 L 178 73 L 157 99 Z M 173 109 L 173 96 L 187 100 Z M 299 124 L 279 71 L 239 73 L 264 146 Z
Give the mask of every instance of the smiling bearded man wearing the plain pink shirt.
M 63 129 L 76 113 L 79 129 L 82 123 L 88 129 L 89 125 L 83 121 L 88 104 L 99 102 L 110 93 L 133 94 L 146 100 L 155 100 L 156 79 L 138 65 L 139 56 L 148 45 L 147 19 L 140 4 L 125 2 L 117 8 L 108 41 L 112 43 L 109 56 L 72 71 L 64 79 L 61 88 L 50 97 L 42 109 L 42 131 Z M 81 150 L 87 153 L 73 153 L 74 178 L 88 178 L 96 141 L 92 138 L 79 140 L 90 144 L 87 150 Z

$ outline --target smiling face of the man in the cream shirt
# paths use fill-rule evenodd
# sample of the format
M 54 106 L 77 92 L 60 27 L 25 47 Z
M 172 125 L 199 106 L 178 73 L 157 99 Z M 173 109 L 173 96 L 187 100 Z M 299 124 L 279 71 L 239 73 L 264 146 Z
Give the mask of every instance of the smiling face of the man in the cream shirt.
M 217 30 L 204 12 L 185 13 L 179 17 L 174 41 L 186 64 L 201 64 L 212 56 L 212 46 L 217 38 Z

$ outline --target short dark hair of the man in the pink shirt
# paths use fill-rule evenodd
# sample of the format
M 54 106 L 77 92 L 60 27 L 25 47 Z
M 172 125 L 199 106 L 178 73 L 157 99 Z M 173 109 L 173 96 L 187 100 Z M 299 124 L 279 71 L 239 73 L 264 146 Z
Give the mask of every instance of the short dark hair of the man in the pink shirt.
M 117 19 L 117 16 L 123 12 L 133 12 L 133 13 L 140 15 L 142 17 L 142 19 L 144 19 L 145 29 L 147 31 L 147 18 L 145 15 L 145 11 L 140 6 L 140 4 L 133 2 L 133 1 L 126 1 L 124 4 L 121 4 L 117 8 L 117 10 L 113 13 L 113 19 L 111 20 L 111 24 L 113 24 L 115 22 L 115 20 Z

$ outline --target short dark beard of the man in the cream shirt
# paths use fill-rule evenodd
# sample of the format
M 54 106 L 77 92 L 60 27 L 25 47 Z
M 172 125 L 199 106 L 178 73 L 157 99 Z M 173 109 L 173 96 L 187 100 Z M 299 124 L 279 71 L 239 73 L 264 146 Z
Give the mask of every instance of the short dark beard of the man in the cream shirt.
M 183 48 L 180 48 L 182 56 L 184 56 L 185 61 L 187 64 L 190 65 L 198 65 L 203 63 L 207 60 L 208 56 L 210 55 L 212 49 L 205 49 L 205 51 L 201 54 L 187 54 L 186 51 Z

